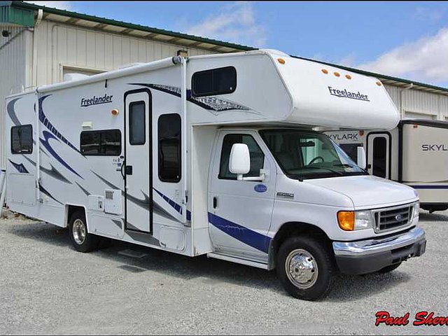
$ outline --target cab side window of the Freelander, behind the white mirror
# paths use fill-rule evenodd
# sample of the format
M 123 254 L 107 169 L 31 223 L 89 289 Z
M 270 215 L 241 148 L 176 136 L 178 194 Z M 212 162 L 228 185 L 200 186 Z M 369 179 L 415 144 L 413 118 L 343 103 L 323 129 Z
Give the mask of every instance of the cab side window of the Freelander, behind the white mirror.
M 223 148 L 221 149 L 221 165 L 218 178 L 228 180 L 237 179 L 237 175 L 232 174 L 229 170 L 230 151 L 232 151 L 232 146 L 234 144 L 246 144 L 249 148 L 251 170 L 244 176 L 260 176 L 260 169 L 262 169 L 265 164 L 265 155 L 255 139 L 249 134 L 227 134 L 224 137 Z

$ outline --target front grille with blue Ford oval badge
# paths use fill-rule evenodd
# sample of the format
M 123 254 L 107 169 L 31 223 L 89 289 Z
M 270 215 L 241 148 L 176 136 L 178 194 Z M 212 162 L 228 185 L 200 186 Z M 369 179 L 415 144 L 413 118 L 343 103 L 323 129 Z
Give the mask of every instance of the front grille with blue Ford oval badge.
M 374 217 L 376 231 L 384 232 L 407 225 L 411 219 L 412 211 L 412 206 L 393 207 L 375 211 Z

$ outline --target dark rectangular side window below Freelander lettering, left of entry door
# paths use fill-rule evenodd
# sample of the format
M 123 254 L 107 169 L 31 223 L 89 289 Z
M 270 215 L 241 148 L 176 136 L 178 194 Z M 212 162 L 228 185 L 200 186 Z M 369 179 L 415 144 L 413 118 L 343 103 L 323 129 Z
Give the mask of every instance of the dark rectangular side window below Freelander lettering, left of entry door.
M 83 131 L 80 134 L 83 155 L 118 156 L 121 154 L 120 130 Z

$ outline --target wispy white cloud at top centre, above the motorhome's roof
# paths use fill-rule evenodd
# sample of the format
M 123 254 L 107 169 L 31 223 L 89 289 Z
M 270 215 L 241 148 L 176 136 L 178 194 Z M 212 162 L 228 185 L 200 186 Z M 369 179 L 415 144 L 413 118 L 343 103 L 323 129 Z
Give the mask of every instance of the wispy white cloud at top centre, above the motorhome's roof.
M 265 27 L 255 20 L 252 3 L 223 6 L 216 15 L 186 29 L 188 34 L 262 47 L 267 41 Z

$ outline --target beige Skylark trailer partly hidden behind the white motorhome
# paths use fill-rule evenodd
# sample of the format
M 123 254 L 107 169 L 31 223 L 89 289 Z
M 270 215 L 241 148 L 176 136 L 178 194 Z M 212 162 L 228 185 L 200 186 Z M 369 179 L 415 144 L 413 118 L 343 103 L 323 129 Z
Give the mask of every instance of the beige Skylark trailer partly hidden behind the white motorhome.
M 358 147 L 367 153 L 367 172 L 411 186 L 419 193 L 421 209 L 448 209 L 448 123 L 401 120 L 388 131 L 325 132 L 352 160 Z

